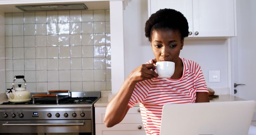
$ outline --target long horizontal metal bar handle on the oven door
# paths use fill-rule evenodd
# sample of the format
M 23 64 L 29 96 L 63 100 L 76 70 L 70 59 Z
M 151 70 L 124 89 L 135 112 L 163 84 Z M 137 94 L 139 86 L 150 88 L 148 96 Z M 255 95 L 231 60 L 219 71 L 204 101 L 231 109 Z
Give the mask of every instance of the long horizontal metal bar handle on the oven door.
M 3 126 L 74 126 L 74 125 L 84 125 L 82 123 L 4 123 Z

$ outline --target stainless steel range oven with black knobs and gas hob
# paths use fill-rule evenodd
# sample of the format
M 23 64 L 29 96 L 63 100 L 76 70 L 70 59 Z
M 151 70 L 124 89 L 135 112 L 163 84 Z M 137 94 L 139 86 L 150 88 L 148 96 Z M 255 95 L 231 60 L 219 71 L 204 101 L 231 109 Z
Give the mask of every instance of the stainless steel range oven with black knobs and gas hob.
M 32 94 L 33 95 L 33 94 Z M 0 105 L 0 133 L 94 135 L 94 107 L 100 92 L 72 92 L 58 104 L 40 100 Z

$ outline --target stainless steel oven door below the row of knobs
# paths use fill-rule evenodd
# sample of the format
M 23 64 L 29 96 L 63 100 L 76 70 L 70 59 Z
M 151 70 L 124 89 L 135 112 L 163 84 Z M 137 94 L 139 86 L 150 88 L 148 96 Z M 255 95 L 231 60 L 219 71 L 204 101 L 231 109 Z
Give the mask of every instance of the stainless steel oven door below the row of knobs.
M 25 120 L 0 121 L 0 133 L 91 133 L 92 121 Z

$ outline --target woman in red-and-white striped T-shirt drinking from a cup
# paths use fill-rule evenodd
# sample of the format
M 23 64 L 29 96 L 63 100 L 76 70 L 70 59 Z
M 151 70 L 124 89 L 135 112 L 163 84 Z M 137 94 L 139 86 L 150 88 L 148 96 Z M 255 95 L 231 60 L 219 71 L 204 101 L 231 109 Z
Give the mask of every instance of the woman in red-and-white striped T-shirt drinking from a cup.
M 145 35 L 155 58 L 126 78 L 108 103 L 104 122 L 106 127 L 118 124 L 129 108 L 140 103 L 146 134 L 159 135 L 164 104 L 209 102 L 208 89 L 200 66 L 179 56 L 188 36 L 188 22 L 182 13 L 162 9 L 152 14 L 146 22 Z M 154 64 L 159 61 L 175 63 L 172 77 L 158 77 Z

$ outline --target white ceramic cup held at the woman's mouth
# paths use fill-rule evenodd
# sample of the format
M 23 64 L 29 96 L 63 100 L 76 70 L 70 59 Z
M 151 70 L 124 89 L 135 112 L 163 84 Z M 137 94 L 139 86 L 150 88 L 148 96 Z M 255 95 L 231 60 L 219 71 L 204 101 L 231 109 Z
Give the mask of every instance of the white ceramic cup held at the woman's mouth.
M 174 73 L 174 69 L 175 69 L 174 62 L 168 62 L 168 61 L 156 62 L 156 71 L 158 73 L 158 77 L 170 78 Z

